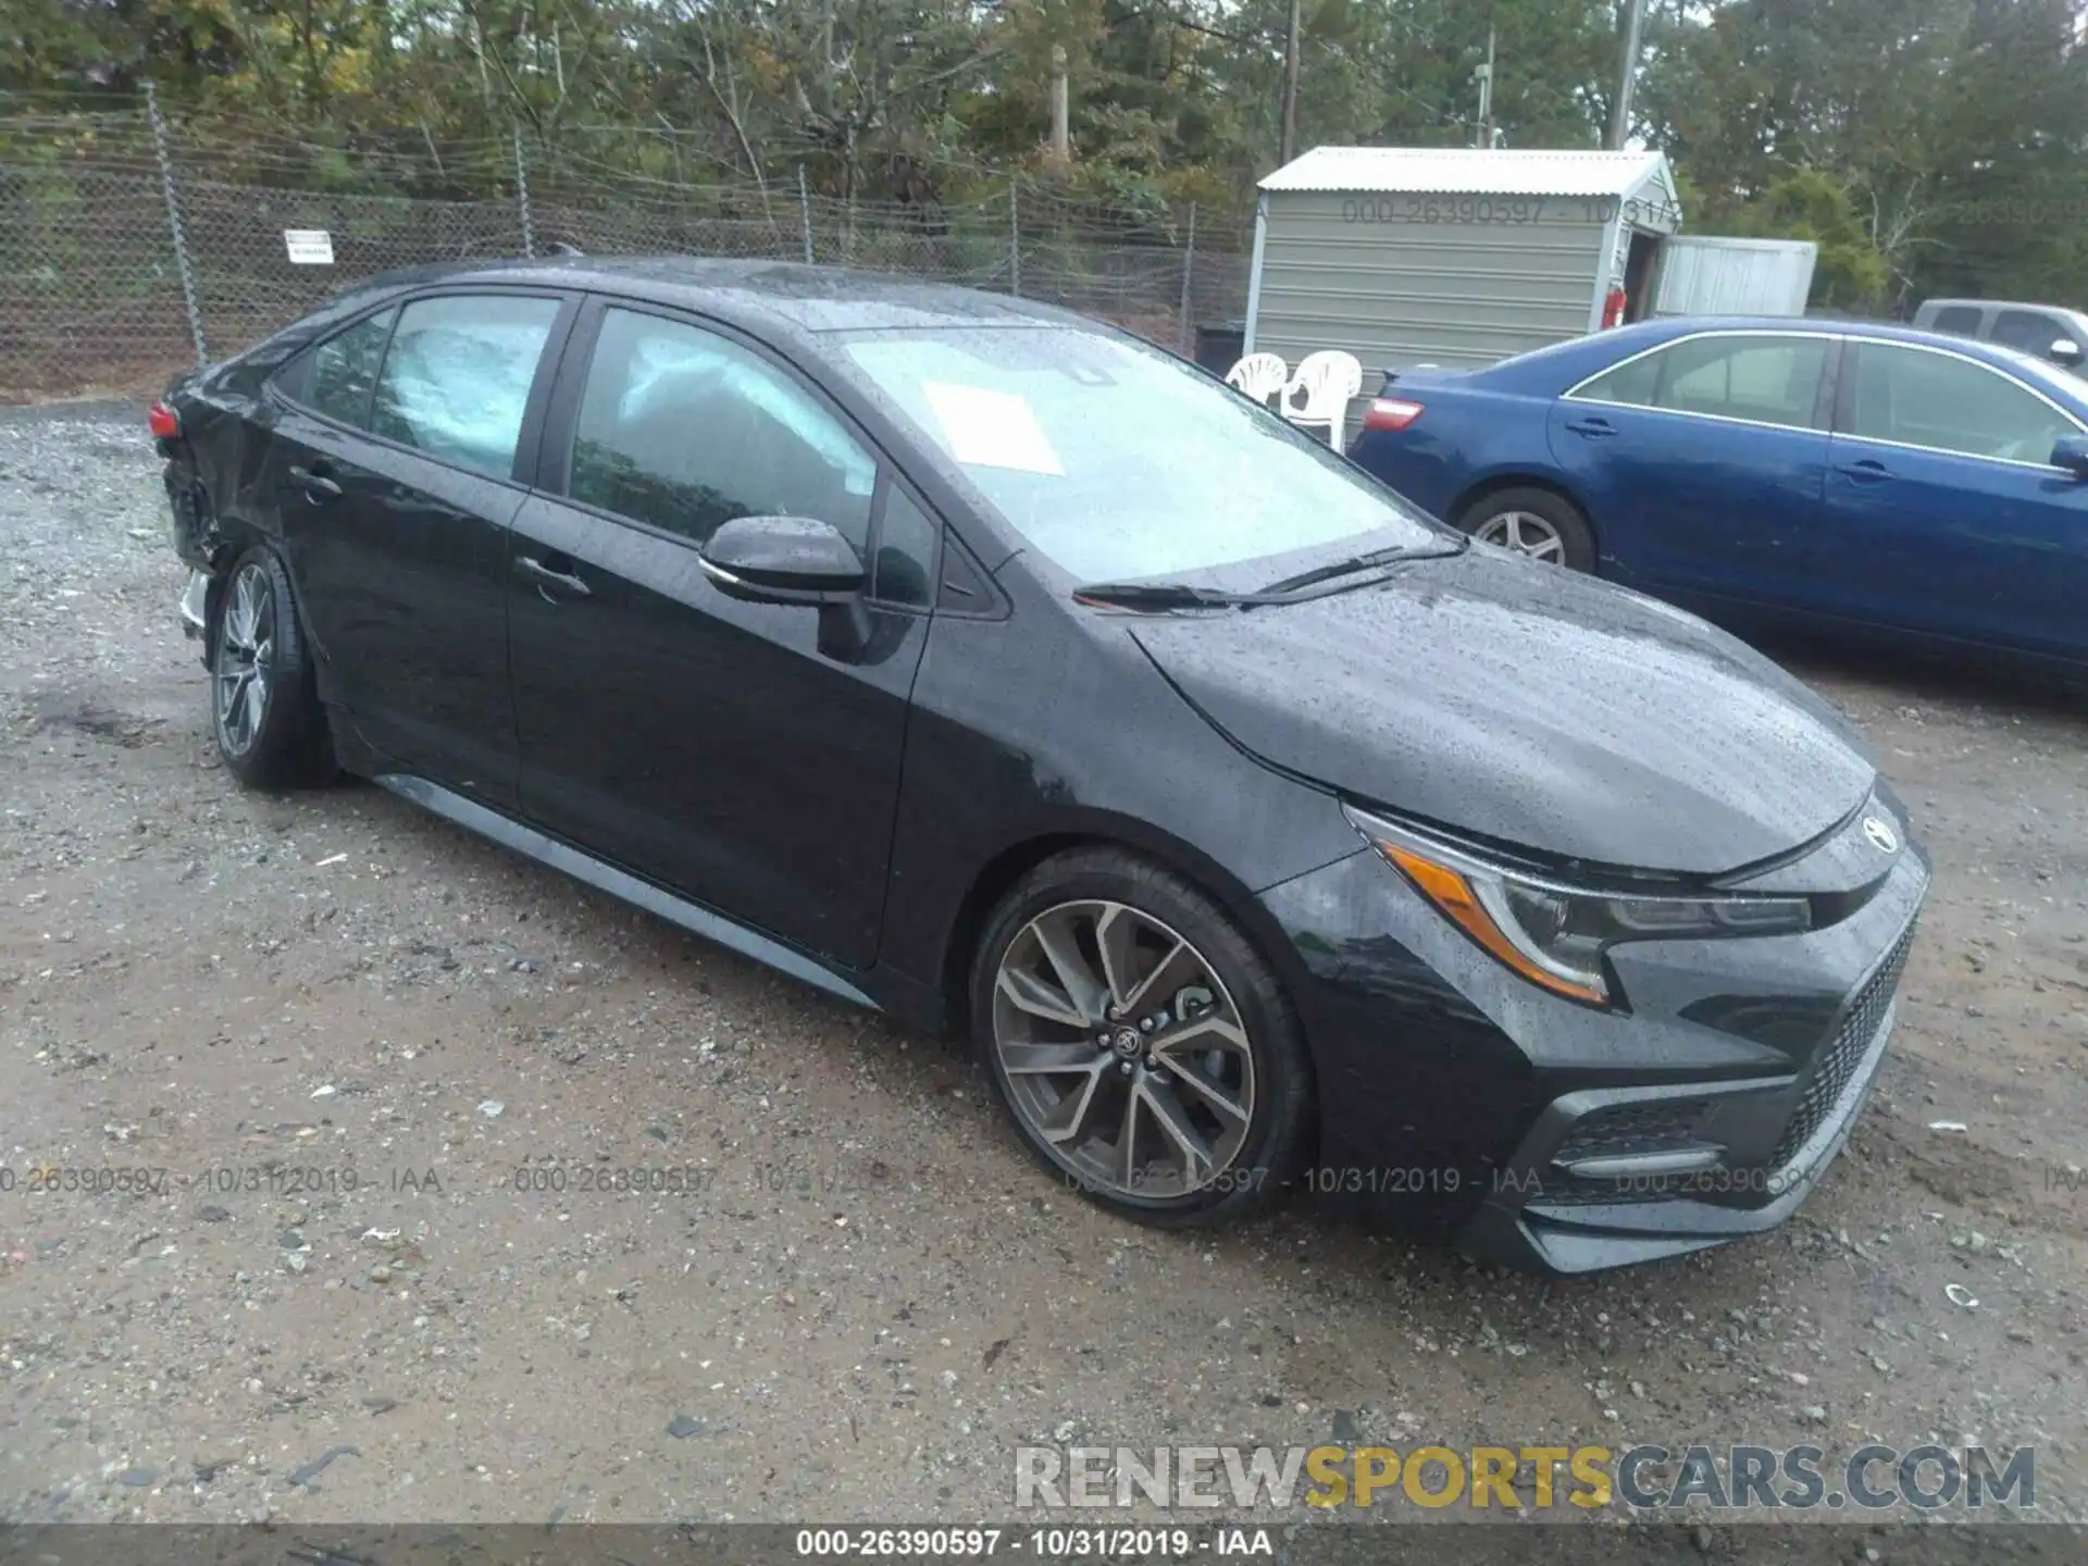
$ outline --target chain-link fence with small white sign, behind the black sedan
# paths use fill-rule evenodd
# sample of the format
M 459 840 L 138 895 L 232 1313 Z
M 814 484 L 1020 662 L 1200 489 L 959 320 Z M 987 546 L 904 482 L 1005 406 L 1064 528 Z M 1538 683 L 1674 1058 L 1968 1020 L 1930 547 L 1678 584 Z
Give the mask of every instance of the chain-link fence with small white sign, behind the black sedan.
M 361 278 L 557 248 L 894 271 L 1065 305 L 1180 353 L 1199 322 L 1247 305 L 1238 219 L 1098 211 L 1046 180 L 1000 180 L 950 205 L 879 203 L 816 194 L 802 173 L 641 177 L 520 136 L 451 161 L 430 146 L 411 165 L 328 152 L 228 144 L 150 104 L 0 117 L 0 401 L 155 388 Z M 424 194 L 428 184 L 497 194 Z M 332 265 L 292 263 L 286 230 L 326 230 Z

